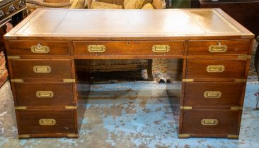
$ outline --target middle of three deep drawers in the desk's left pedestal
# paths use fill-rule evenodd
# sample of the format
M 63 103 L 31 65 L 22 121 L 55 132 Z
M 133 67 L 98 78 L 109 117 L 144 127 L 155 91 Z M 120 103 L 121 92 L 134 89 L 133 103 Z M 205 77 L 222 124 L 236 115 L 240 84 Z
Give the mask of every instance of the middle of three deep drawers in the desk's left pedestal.
M 73 85 L 14 83 L 18 106 L 73 105 Z

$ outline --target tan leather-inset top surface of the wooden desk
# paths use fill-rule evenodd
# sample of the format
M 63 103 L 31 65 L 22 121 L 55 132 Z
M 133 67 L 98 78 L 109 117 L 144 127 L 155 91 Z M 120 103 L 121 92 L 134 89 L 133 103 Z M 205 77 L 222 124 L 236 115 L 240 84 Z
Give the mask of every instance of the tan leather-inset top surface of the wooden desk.
M 233 37 L 253 34 L 219 8 L 167 10 L 38 9 L 6 39 L 147 39 L 148 37 Z

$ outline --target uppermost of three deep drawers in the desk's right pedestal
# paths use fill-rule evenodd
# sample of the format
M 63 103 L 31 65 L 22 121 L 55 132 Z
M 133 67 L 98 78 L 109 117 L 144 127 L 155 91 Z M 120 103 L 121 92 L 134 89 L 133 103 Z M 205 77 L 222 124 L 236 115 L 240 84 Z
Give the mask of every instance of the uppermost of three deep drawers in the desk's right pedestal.
M 247 60 L 187 60 L 186 78 L 246 78 Z

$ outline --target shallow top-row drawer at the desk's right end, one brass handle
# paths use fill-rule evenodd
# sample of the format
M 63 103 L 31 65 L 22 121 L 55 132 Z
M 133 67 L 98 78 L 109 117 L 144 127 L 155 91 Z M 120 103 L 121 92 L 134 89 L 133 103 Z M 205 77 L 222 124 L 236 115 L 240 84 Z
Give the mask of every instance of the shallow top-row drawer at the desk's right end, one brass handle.
M 250 40 L 205 40 L 188 42 L 188 55 L 248 54 Z

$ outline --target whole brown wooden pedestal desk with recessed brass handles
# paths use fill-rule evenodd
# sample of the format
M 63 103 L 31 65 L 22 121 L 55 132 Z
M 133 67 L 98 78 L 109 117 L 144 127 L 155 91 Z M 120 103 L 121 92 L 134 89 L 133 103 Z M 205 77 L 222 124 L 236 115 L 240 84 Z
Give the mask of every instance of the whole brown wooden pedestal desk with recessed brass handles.
M 38 9 L 5 35 L 18 136 L 78 137 L 76 61 L 181 58 L 179 137 L 238 138 L 253 38 L 217 8 Z

